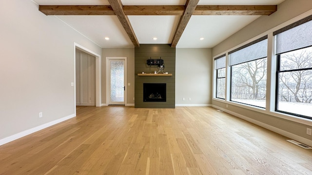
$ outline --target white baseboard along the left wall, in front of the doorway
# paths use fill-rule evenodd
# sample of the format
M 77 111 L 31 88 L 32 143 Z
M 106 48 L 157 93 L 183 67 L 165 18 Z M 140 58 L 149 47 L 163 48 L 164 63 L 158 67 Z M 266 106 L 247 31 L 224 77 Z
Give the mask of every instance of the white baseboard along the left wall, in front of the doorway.
M 22 131 L 20 133 L 14 134 L 12 136 L 6 137 L 6 138 L 0 140 L 0 145 L 3 145 L 5 143 L 8 143 L 8 142 L 13 141 L 13 140 L 20 139 L 20 138 L 22 138 L 24 136 L 27 136 L 29 134 L 32 134 L 34 132 L 37 132 L 37 131 L 39 131 L 41 129 L 47 128 L 47 127 L 52 126 L 54 124 L 58 124 L 58 123 L 64 122 L 64 121 L 66 121 L 68 119 L 71 119 L 73 117 L 76 117 L 76 115 L 72 114 L 72 115 L 69 115 L 67 117 L 63 117 L 61 119 L 58 119 L 58 120 L 55 120 L 55 121 L 52 121 L 52 122 L 49 122 L 49 123 L 45 123 L 45 124 L 39 125 L 37 127 L 31 128 L 31 129 L 27 129 L 26 131 Z

